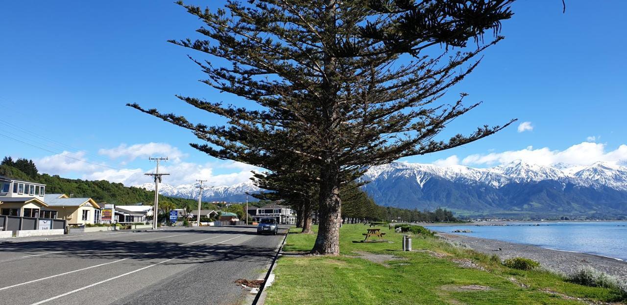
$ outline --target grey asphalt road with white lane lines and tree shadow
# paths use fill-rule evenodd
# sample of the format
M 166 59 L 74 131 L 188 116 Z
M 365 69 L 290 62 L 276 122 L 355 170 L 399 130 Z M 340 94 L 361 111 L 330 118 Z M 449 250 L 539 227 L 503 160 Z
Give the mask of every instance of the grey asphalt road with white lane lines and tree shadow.
M 233 282 L 263 277 L 283 240 L 255 231 L 169 228 L 0 243 L 0 304 L 240 304 L 250 292 Z

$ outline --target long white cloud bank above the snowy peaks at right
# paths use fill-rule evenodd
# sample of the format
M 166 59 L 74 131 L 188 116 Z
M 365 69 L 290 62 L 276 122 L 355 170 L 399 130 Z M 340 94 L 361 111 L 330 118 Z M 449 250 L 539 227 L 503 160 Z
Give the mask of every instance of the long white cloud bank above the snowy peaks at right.
M 510 163 L 515 160 L 527 163 L 549 165 L 566 163 L 573 165 L 589 165 L 597 161 L 617 163 L 627 160 L 627 145 L 621 145 L 613 151 L 606 151 L 606 145 L 593 142 L 582 142 L 564 149 L 551 150 L 549 147 L 534 149 L 529 146 L 519 151 L 504 151 L 502 153 L 472 154 L 464 158 L 461 163 L 466 165 L 497 165 Z

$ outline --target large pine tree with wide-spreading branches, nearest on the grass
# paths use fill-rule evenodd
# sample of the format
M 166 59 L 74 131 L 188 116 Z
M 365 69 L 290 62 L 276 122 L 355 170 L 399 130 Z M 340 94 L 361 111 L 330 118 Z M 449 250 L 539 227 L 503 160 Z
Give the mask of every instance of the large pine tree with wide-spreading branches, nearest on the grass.
M 191 146 L 219 159 L 270 171 L 282 158 L 314 164 L 320 221 L 312 253 L 337 255 L 343 183 L 367 166 L 461 146 L 511 124 L 437 138 L 477 107 L 462 103 L 465 94 L 440 100 L 502 39 L 512 2 L 251 0 L 214 10 L 179 3 L 204 23 L 196 31 L 206 38 L 171 42 L 210 55 L 192 58 L 208 76 L 202 81 L 254 107 L 177 96 L 228 120 L 207 126 L 130 106 L 189 129 L 206 142 Z M 484 43 L 487 31 L 495 38 Z

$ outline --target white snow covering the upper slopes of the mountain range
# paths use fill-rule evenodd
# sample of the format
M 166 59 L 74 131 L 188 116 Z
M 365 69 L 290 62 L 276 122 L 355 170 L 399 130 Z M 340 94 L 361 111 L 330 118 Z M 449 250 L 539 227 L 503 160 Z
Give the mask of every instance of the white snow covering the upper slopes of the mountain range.
M 608 186 L 615 190 L 627 191 L 627 166 L 610 163 L 594 163 L 590 166 L 573 166 L 571 164 L 553 164 L 544 166 L 514 161 L 493 168 L 472 168 L 470 166 L 437 166 L 434 164 L 393 162 L 380 166 L 372 166 L 364 174 L 367 181 L 385 181 L 391 178 L 415 179 L 422 188 L 432 178 L 445 179 L 465 185 L 486 184 L 493 188 L 501 188 L 510 183 L 537 183 L 554 180 L 561 183 L 572 183 L 579 186 L 599 188 Z M 137 188 L 154 190 L 153 183 L 135 185 Z M 159 185 L 159 193 L 166 196 L 181 198 L 198 198 L 197 185 L 171 186 Z M 241 201 L 245 193 L 257 192 L 252 181 L 236 185 L 207 186 L 203 190 L 203 200 Z

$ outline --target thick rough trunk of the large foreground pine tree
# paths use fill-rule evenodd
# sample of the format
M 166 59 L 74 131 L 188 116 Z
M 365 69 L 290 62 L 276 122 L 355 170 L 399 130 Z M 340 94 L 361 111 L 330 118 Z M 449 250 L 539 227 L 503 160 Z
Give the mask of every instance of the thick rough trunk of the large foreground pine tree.
M 319 227 L 312 254 L 338 255 L 340 254 L 340 222 L 341 201 L 339 168 L 324 166 L 321 170 Z

